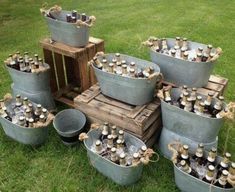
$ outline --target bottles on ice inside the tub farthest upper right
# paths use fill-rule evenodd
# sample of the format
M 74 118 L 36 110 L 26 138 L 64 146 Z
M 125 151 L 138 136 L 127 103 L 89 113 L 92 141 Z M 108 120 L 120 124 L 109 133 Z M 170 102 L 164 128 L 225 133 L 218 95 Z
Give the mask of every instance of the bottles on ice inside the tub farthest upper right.
M 151 38 L 149 41 L 150 46 L 154 51 L 178 59 L 195 62 L 208 62 L 216 55 L 216 51 L 212 49 L 212 45 L 207 45 L 206 49 L 203 49 L 203 47 L 190 49 L 187 38 L 176 37 L 173 47 L 169 47 L 166 38 Z

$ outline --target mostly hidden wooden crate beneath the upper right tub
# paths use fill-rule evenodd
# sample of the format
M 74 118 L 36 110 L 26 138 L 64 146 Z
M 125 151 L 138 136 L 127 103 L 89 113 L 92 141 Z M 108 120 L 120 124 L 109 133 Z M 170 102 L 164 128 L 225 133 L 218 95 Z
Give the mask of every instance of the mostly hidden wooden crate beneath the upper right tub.
M 207 85 L 203 88 L 198 88 L 197 92 L 202 95 L 208 95 L 209 92 L 214 94 L 214 97 L 223 95 L 228 84 L 228 79 L 216 75 L 211 75 Z M 176 87 L 173 83 L 163 81 L 163 86 L 171 85 Z

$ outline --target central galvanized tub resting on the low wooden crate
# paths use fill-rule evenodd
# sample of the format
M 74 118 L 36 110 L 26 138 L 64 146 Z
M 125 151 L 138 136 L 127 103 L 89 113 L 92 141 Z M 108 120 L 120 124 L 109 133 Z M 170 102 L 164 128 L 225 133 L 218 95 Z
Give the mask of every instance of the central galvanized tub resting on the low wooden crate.
M 110 62 L 115 54 L 110 53 L 105 56 L 107 61 Z M 103 56 L 99 56 L 98 59 L 102 57 Z M 121 58 L 126 60 L 127 63 L 134 61 L 138 68 L 153 67 L 155 75 L 153 75 L 151 79 L 124 77 L 102 71 L 93 64 L 102 93 L 131 105 L 143 105 L 150 102 L 154 97 L 156 83 L 158 80 L 160 81 L 162 77 L 160 68 L 152 62 L 136 57 L 121 54 Z

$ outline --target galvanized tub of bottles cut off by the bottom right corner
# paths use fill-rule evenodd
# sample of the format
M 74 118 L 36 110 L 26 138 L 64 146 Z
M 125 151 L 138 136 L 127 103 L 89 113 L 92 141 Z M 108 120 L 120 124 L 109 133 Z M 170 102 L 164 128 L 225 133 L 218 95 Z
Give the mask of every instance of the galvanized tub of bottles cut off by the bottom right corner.
M 221 158 L 221 157 L 220 157 Z M 174 164 L 175 183 L 177 187 L 184 192 L 234 192 L 235 188 L 222 189 L 214 185 L 210 185 L 198 178 L 195 178 Z

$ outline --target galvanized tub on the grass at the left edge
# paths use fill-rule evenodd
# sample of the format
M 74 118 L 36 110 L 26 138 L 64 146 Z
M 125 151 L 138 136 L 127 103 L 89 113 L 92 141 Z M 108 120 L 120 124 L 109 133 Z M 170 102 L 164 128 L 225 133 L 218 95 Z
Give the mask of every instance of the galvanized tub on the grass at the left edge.
M 11 100 L 6 103 L 8 110 L 10 109 Z M 33 104 L 35 105 L 35 104 Z M 48 136 L 48 126 L 40 128 L 28 128 L 13 124 L 9 120 L 0 116 L 0 123 L 7 136 L 10 138 L 27 145 L 41 145 L 46 142 Z

